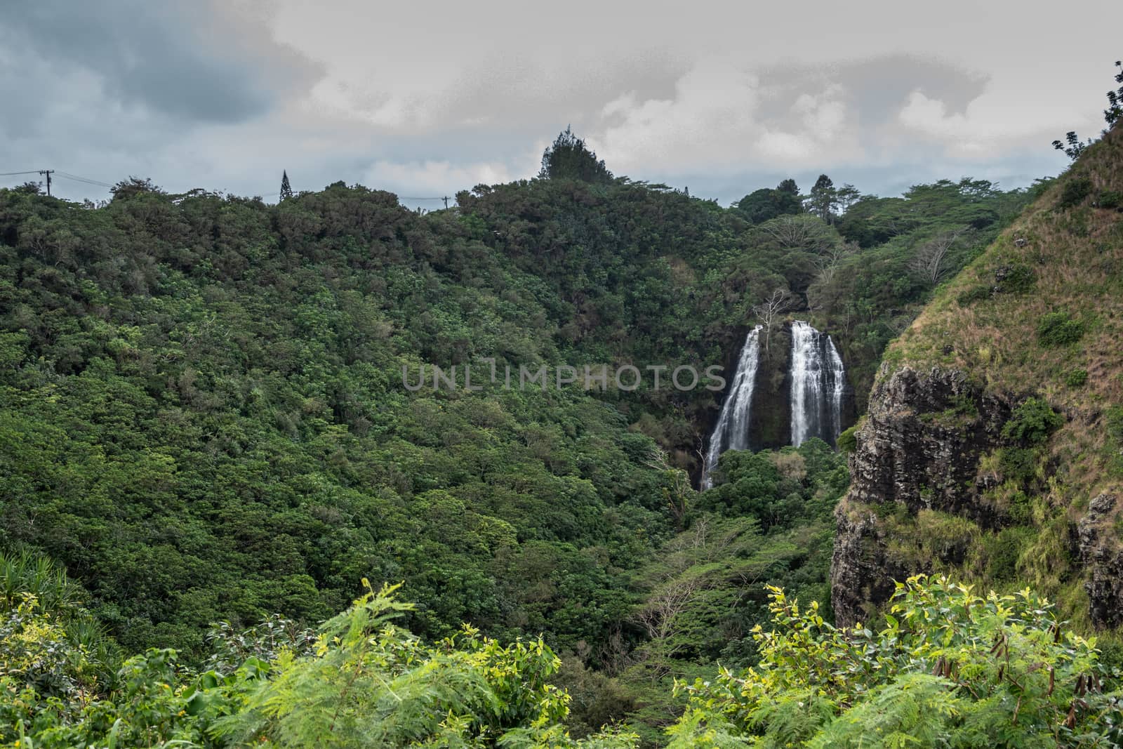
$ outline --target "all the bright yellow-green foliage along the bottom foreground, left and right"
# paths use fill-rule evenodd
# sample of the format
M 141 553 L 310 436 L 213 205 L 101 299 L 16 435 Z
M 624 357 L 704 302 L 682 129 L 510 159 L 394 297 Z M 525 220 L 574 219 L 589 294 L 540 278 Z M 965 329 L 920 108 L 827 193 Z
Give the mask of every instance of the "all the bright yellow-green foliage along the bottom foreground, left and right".
M 540 639 L 503 646 L 465 627 L 427 645 L 395 625 L 410 604 L 368 590 L 305 651 L 184 666 L 128 659 L 111 683 L 30 593 L 0 630 L 0 741 L 67 747 L 634 748 L 608 729 L 573 737 L 574 697 Z M 832 627 L 768 586 L 758 655 L 714 681 L 679 681 L 672 747 L 1108 747 L 1123 703 L 1094 639 L 1029 591 L 978 596 L 947 578 L 902 583 L 874 632 Z

